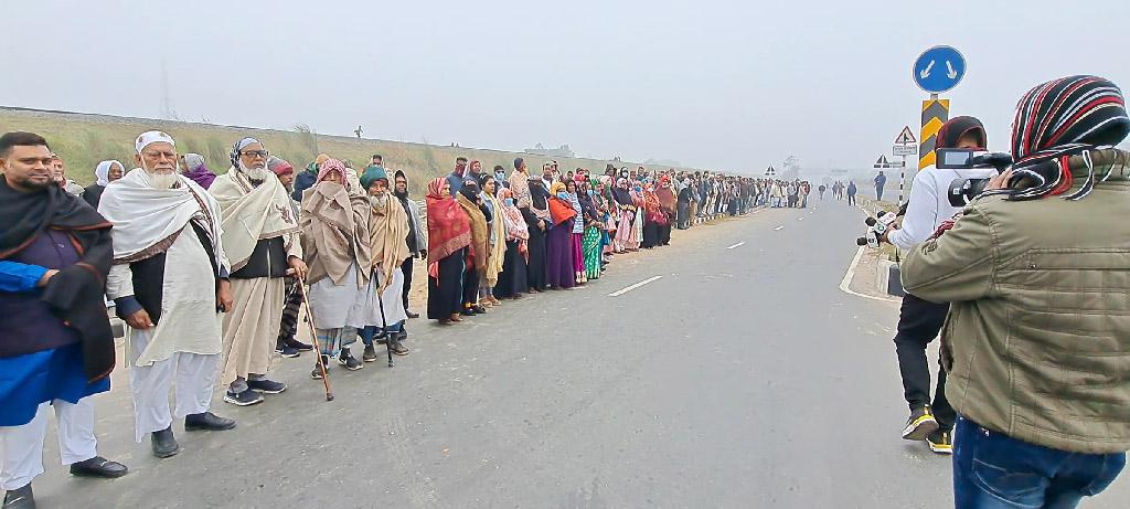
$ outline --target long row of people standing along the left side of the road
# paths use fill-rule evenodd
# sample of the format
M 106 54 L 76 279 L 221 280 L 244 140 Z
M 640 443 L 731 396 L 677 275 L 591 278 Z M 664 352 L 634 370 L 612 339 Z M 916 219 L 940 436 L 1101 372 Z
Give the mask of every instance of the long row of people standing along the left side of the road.
M 427 264 L 427 317 L 451 325 L 504 300 L 589 284 L 618 255 L 669 245 L 672 227 L 758 205 L 751 179 L 611 165 L 563 174 L 556 163 L 531 175 L 522 158 L 506 175 L 461 157 L 428 182 L 421 213 L 407 174 L 390 179 L 380 156 L 356 172 L 320 155 L 298 172 L 243 138 L 217 175 L 163 131 L 140 135 L 134 149 L 133 170 L 103 162 L 82 188 L 44 138 L 0 137 L 6 503 L 33 500 L 52 405 L 72 474 L 128 472 L 97 455 L 89 399 L 110 389 L 114 368 L 107 297 L 128 326 L 136 439 L 149 435 L 153 454 L 167 458 L 180 451 L 174 416 L 185 431 L 235 428 L 210 411 L 217 383 L 240 406 L 287 390 L 268 371 L 276 353 L 315 348 L 297 338 L 305 304 L 320 379 L 331 360 L 346 370 L 375 361 L 381 343 L 409 353 L 416 261 Z

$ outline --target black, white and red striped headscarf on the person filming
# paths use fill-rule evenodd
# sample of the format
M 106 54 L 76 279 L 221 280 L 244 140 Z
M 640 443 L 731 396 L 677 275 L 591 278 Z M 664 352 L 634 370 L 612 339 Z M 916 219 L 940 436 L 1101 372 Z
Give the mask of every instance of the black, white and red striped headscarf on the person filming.
M 1096 178 L 1090 150 L 1122 141 L 1130 133 L 1122 90 L 1096 76 L 1054 79 L 1028 90 L 1016 106 L 1012 121 L 1014 180 L 1031 179 L 1033 187 L 1006 191 L 1025 200 L 1060 195 L 1071 188 L 1068 159 L 1081 155 L 1088 169 L 1083 187 L 1063 197 L 1078 200 L 1105 181 Z

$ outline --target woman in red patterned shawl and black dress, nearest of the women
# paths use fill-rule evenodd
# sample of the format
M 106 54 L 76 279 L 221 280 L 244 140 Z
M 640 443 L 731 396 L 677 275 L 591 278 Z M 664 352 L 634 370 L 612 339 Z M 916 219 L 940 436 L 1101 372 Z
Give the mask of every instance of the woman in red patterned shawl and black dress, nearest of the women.
M 471 219 L 451 196 L 446 178 L 427 184 L 427 317 L 440 323 L 462 321 L 463 265 L 471 245 Z

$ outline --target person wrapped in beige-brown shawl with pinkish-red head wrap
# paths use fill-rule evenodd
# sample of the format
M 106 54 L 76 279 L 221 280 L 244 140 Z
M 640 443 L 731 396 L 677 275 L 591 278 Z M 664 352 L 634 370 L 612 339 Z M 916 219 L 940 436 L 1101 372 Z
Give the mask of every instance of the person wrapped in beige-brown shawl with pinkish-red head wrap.
M 302 202 L 302 243 L 310 267 L 310 312 L 322 348 L 322 364 L 329 356 L 347 370 L 364 368 L 349 352 L 357 340 L 357 313 L 366 302 L 364 288 L 372 277 L 372 251 L 368 231 L 368 200 L 350 192 L 346 167 L 328 159 L 318 172 L 318 182 Z M 318 362 L 312 378 L 321 379 Z

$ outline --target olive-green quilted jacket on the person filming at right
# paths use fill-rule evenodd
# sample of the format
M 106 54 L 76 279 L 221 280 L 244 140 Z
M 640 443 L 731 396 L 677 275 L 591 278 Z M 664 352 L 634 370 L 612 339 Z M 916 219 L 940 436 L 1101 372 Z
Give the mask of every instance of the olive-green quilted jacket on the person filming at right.
M 907 292 L 950 302 L 946 397 L 1018 440 L 1074 452 L 1130 450 L 1130 154 L 1092 153 L 1087 197 L 984 197 L 912 250 Z M 1071 158 L 1075 187 L 1087 178 Z M 1070 191 L 1069 191 L 1070 192 Z

